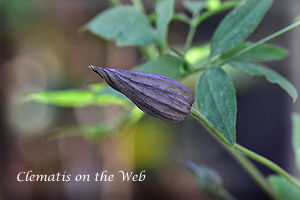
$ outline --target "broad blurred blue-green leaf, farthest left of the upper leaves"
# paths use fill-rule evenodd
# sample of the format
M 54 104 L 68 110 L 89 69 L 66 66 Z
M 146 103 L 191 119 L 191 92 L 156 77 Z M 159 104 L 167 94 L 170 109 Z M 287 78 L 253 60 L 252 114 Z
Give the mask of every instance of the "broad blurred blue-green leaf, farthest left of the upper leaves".
M 85 29 L 107 40 L 114 40 L 118 46 L 158 42 L 147 17 L 130 6 L 113 7 L 100 13 L 83 27 Z

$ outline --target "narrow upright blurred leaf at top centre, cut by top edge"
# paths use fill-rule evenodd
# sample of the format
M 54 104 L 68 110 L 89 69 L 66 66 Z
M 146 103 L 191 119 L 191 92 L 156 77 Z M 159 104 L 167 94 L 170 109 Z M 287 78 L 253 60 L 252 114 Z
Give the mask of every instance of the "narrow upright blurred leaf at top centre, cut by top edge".
M 168 26 L 174 15 L 174 0 L 162 0 L 156 4 L 157 13 L 157 37 L 162 43 L 166 43 Z

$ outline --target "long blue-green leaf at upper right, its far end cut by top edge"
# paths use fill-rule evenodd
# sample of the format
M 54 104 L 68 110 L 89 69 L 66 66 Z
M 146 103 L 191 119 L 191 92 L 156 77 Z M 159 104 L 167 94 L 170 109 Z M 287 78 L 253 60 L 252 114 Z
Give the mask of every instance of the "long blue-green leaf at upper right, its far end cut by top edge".
M 213 35 L 210 57 L 222 54 L 246 39 L 271 4 L 272 0 L 247 0 L 231 11 Z

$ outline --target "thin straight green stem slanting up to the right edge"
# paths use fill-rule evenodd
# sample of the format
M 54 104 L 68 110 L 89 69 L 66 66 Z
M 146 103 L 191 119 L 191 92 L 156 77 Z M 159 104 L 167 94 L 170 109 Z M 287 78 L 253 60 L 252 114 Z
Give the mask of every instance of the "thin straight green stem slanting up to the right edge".
M 241 56 L 241 55 L 243 55 L 243 54 L 249 52 L 250 50 L 252 50 L 252 49 L 254 49 L 254 48 L 256 48 L 256 47 L 258 47 L 259 45 L 262 45 L 262 44 L 264 44 L 264 43 L 266 43 L 266 42 L 268 42 L 268 41 L 274 39 L 275 37 L 278 37 L 279 35 L 281 35 L 281 34 L 283 34 L 283 33 L 286 33 L 286 32 L 288 32 L 288 31 L 292 30 L 293 28 L 296 28 L 297 26 L 300 26 L 300 20 L 297 21 L 297 22 L 295 22 L 295 23 L 292 23 L 291 25 L 289 25 L 289 26 L 287 26 L 287 27 L 285 27 L 285 28 L 283 28 L 283 29 L 281 29 L 281 30 L 275 32 L 275 33 L 273 33 L 272 35 L 269 35 L 269 36 L 267 36 L 267 37 L 265 37 L 265 38 L 259 40 L 258 42 L 253 43 L 252 45 L 246 47 L 245 49 L 243 49 L 243 50 L 241 50 L 241 51 L 239 51 L 239 52 L 237 52 L 236 54 L 234 54 L 234 55 L 231 56 L 230 58 L 228 58 L 228 59 L 222 61 L 221 63 L 219 63 L 219 64 L 217 64 L 217 65 L 222 66 L 222 65 L 224 65 L 224 64 L 226 64 L 226 63 L 228 63 L 228 62 L 230 62 L 231 60 L 233 60 L 233 59 L 235 59 L 235 58 L 238 58 L 239 56 Z

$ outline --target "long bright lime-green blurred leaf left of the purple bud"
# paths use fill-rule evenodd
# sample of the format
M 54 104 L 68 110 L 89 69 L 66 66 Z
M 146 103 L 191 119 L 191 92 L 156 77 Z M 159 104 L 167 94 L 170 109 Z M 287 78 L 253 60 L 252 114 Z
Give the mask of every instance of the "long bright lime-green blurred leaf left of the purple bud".
M 88 105 L 119 105 L 126 106 L 128 100 L 114 94 L 95 94 L 88 90 L 57 90 L 40 91 L 25 95 L 25 100 L 44 104 L 53 104 L 62 107 L 83 107 Z

